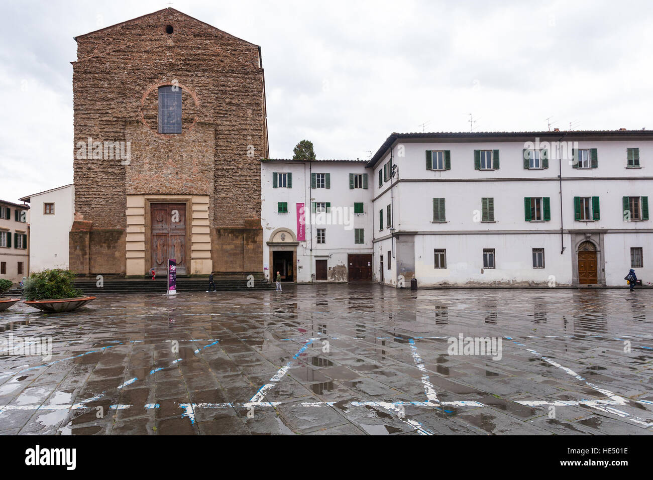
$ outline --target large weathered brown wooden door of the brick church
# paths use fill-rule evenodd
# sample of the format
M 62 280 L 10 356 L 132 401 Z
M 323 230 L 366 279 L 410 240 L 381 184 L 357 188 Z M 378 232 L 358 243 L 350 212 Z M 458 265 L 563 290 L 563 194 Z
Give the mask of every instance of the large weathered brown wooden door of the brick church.
M 176 259 L 177 274 L 186 274 L 186 205 L 153 203 L 151 213 L 151 264 L 157 275 L 167 275 L 168 259 Z

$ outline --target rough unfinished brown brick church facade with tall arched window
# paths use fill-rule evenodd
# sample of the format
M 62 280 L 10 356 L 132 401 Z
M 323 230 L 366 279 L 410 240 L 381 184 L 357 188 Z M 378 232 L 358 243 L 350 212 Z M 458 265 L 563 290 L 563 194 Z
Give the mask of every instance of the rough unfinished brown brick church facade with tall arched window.
M 174 8 L 76 42 L 71 270 L 261 272 L 259 46 Z

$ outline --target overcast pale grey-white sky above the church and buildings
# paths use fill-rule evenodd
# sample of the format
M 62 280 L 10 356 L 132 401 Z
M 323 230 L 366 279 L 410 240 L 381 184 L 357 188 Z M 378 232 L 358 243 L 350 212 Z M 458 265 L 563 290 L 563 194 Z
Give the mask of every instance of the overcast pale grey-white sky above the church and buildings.
M 72 183 L 74 35 L 165 1 L 3 2 L 0 199 Z M 627 1 L 191 1 L 261 46 L 270 155 L 368 158 L 392 132 L 653 129 L 653 8 Z

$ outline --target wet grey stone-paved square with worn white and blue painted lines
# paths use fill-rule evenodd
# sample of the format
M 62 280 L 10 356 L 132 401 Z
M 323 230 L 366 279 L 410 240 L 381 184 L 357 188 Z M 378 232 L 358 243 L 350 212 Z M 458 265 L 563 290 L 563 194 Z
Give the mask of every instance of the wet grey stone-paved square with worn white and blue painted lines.
M 460 335 L 496 349 L 450 355 Z M 34 337 L 51 358 L 8 350 Z M 287 285 L 0 313 L 0 434 L 652 434 L 652 377 L 648 291 Z

